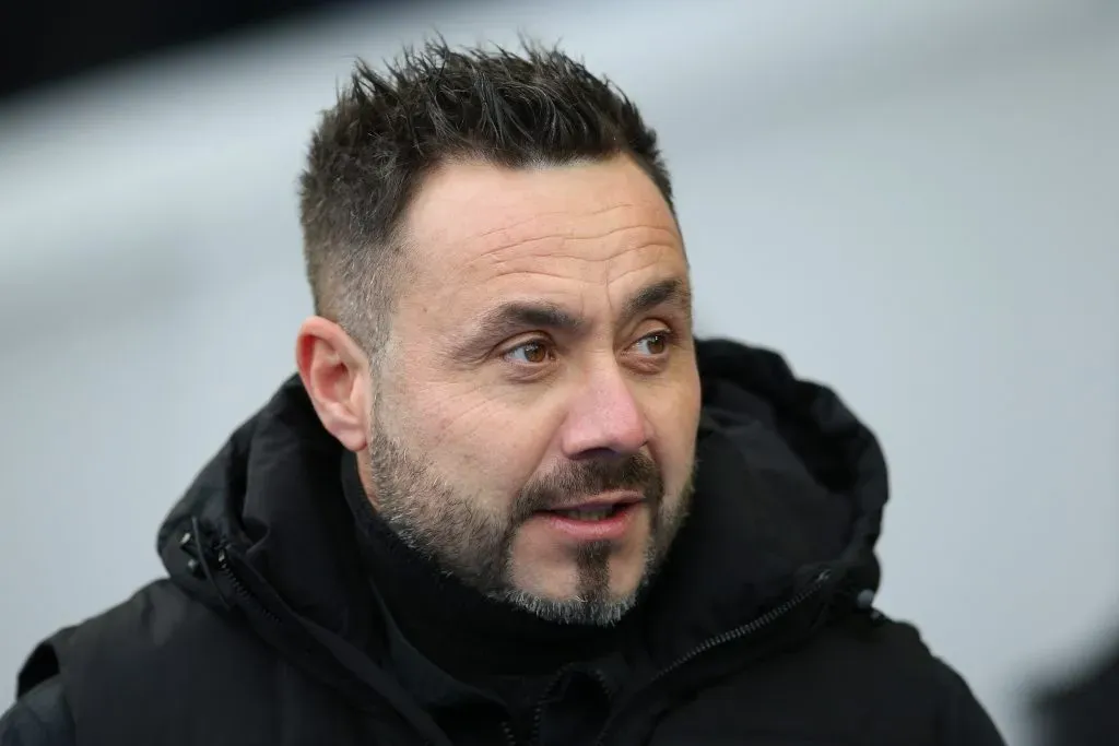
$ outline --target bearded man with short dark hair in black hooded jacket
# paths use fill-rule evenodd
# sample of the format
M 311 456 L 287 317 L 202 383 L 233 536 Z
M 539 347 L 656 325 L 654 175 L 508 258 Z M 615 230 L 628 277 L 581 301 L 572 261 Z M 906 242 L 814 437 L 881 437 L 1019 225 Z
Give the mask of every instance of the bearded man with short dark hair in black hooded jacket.
M 696 342 L 653 132 L 558 51 L 359 65 L 302 177 L 299 375 L 31 655 L 3 744 L 986 746 L 871 606 L 886 471 Z

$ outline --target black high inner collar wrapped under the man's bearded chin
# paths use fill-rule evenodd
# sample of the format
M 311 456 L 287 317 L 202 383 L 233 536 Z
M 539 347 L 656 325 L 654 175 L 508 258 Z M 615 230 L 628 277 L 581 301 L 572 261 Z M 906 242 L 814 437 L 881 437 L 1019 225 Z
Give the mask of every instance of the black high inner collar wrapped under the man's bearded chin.
M 628 629 L 632 614 L 612 627 L 563 624 L 485 596 L 412 550 L 379 519 L 352 454 L 342 483 L 375 591 L 412 646 L 448 673 L 544 674 L 605 653 Z

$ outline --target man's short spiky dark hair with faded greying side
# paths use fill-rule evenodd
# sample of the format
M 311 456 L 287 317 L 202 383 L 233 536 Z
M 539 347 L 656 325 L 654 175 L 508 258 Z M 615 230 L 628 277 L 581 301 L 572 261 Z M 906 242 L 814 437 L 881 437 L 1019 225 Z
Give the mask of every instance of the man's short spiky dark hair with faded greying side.
M 612 83 L 557 48 L 521 39 L 405 49 L 384 73 L 358 60 L 323 112 L 300 178 L 314 312 L 373 355 L 388 336 L 404 268 L 401 223 L 424 177 L 454 160 L 507 168 L 628 155 L 673 206 L 656 133 Z

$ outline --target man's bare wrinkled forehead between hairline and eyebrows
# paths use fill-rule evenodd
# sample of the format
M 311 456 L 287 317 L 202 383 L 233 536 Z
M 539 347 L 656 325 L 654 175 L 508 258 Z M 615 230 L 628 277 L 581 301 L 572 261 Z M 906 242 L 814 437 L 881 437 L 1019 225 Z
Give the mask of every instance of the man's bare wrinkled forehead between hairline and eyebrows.
M 527 172 L 469 167 L 440 174 L 425 200 L 411 216 L 419 272 L 398 308 L 416 341 L 440 339 L 440 349 L 458 346 L 469 320 L 501 300 L 602 320 L 641 284 L 687 283 L 671 210 L 626 161 Z

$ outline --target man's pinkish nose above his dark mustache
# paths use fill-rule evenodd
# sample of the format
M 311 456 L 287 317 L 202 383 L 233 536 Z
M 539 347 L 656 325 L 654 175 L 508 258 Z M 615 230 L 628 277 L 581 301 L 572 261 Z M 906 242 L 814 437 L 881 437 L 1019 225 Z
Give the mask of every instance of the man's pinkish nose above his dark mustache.
M 617 363 L 590 374 L 564 423 L 564 455 L 572 460 L 627 455 L 648 441 L 645 414 Z

